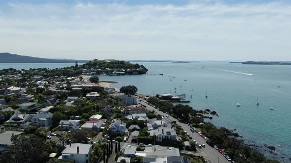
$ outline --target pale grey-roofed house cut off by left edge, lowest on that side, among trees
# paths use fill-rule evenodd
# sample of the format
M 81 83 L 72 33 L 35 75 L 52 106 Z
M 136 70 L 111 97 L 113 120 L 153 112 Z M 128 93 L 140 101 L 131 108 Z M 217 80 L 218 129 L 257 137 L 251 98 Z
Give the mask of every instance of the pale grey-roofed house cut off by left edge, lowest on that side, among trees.
M 0 134 L 0 152 L 6 150 L 6 148 L 12 145 L 11 137 L 22 134 L 17 131 L 6 131 Z

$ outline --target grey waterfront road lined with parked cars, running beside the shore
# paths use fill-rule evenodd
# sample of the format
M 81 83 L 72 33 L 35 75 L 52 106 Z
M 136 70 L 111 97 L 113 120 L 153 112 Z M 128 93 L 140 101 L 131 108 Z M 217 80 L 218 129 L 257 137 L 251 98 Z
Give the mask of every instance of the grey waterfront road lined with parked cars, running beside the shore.
M 154 107 L 146 104 L 144 101 L 142 101 L 141 104 L 145 105 L 147 110 L 151 111 L 152 109 L 154 109 L 154 111 L 156 111 L 158 114 L 162 114 L 164 117 L 166 115 L 168 115 L 168 114 L 163 113 L 162 111 L 159 111 L 158 109 L 155 109 Z M 195 139 L 196 142 L 198 142 L 199 144 L 205 144 L 205 148 L 200 149 L 201 150 L 201 153 L 199 153 L 200 156 L 203 156 L 204 158 L 211 160 L 210 163 L 230 163 L 229 161 L 227 161 L 224 158 L 224 156 L 222 154 L 220 154 L 218 152 L 218 150 L 209 146 L 202 136 L 199 136 L 196 132 L 192 133 L 191 128 L 187 124 L 178 122 L 178 120 L 176 118 L 173 118 L 171 115 L 168 115 L 168 116 L 169 116 L 168 119 L 170 119 L 172 121 L 176 121 L 177 124 L 180 125 L 184 129 L 184 131 L 186 131 L 190 135 L 193 134 L 192 140 Z M 218 161 L 218 158 L 219 158 L 219 161 Z

